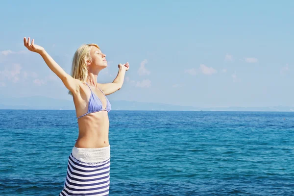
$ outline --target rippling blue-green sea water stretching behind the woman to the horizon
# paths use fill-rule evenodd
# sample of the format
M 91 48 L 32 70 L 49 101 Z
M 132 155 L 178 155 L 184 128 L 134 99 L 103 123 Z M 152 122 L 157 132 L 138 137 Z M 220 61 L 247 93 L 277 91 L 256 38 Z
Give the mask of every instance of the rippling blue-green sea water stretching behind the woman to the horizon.
M 293 196 L 294 113 L 111 111 L 110 196 Z M 74 111 L 0 110 L 0 195 L 58 196 Z

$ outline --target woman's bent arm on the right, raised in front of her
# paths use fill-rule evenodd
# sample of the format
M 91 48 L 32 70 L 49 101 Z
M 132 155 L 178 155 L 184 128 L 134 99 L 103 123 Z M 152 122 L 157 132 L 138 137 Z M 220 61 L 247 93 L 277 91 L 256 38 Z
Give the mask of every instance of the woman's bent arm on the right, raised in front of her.
M 129 69 L 129 64 L 128 63 L 119 64 L 118 67 L 119 67 L 119 73 L 112 83 L 105 83 L 105 84 L 99 85 L 105 95 L 110 95 L 120 90 L 123 86 L 124 75 L 125 75 L 125 72 L 128 71 Z

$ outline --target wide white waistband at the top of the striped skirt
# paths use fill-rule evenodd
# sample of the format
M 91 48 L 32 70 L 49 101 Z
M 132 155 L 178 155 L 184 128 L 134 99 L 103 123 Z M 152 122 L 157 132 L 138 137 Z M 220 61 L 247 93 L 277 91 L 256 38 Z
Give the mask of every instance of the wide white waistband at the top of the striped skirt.
M 99 148 L 73 147 L 73 157 L 85 163 L 98 163 L 110 158 L 110 146 Z

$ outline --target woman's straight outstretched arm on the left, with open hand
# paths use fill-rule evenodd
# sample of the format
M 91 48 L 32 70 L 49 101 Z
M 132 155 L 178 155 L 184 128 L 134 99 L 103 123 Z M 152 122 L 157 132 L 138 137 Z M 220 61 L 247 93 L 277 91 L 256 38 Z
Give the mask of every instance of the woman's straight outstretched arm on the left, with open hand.
M 61 79 L 61 81 L 69 91 L 71 91 L 73 94 L 79 92 L 81 81 L 73 78 L 70 74 L 66 73 L 43 47 L 34 44 L 34 40 L 32 40 L 32 42 L 30 43 L 30 38 L 28 38 L 27 40 L 26 38 L 24 38 L 24 45 L 28 50 L 37 52 L 42 56 L 50 70 L 52 70 L 52 72 L 54 72 Z

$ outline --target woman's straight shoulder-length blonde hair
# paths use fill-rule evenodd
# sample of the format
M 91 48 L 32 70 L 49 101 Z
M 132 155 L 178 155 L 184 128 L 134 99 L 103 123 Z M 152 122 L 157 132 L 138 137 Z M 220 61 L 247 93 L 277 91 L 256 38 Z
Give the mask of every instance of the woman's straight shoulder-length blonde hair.
M 75 51 L 73 55 L 71 75 L 73 78 L 82 82 L 86 82 L 88 79 L 88 66 L 86 61 L 91 60 L 90 50 L 92 46 L 100 49 L 97 44 L 83 44 Z M 73 95 L 71 91 L 69 91 L 68 94 Z

